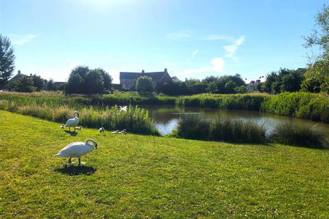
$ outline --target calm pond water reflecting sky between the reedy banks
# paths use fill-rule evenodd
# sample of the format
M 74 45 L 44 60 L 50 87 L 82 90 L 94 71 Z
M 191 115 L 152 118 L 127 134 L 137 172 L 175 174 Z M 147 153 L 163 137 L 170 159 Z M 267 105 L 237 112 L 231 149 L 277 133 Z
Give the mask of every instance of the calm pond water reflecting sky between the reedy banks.
M 218 110 L 215 108 L 204 107 L 179 107 L 175 105 L 141 105 L 140 107 L 149 111 L 149 115 L 154 120 L 156 128 L 162 135 L 167 135 L 178 125 L 178 120 L 182 116 L 196 115 L 200 118 L 216 119 L 216 118 L 234 118 L 242 120 L 253 120 L 256 123 L 267 125 L 267 130 L 271 132 L 273 127 L 282 122 L 295 122 L 305 125 L 317 125 L 319 129 L 329 131 L 329 124 L 317 123 L 311 120 L 292 118 L 289 116 L 278 116 L 273 114 L 265 114 L 256 111 L 246 110 Z

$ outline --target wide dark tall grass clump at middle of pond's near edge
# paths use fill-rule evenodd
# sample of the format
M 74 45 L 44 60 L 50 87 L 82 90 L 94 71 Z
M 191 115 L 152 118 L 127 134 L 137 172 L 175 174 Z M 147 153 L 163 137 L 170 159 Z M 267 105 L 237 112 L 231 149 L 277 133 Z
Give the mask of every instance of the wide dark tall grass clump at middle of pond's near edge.
M 178 138 L 250 144 L 264 144 L 265 134 L 265 125 L 258 125 L 253 121 L 230 118 L 205 120 L 197 116 L 181 118 L 175 130 Z

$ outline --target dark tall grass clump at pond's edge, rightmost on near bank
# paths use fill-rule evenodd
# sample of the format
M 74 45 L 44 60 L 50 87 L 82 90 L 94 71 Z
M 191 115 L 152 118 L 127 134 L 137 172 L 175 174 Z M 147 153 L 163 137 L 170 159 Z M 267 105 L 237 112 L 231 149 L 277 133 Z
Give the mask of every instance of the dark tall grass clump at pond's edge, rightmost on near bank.
M 325 131 L 316 125 L 285 122 L 274 127 L 269 139 L 280 144 L 321 148 L 328 146 Z

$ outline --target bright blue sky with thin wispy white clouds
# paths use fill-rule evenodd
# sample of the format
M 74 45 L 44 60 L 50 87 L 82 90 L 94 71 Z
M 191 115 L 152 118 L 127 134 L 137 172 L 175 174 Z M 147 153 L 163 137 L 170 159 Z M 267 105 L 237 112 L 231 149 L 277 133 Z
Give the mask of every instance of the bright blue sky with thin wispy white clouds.
M 180 79 L 254 78 L 307 64 L 320 0 L 0 0 L 16 70 L 65 81 L 74 66 L 160 71 Z

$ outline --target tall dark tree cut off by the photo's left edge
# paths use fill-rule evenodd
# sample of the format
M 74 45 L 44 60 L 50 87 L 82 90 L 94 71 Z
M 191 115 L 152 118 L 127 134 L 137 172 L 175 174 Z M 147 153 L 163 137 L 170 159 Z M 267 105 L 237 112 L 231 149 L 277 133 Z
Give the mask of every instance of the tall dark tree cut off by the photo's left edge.
M 14 49 L 9 38 L 0 34 L 0 86 L 8 81 L 15 68 Z

